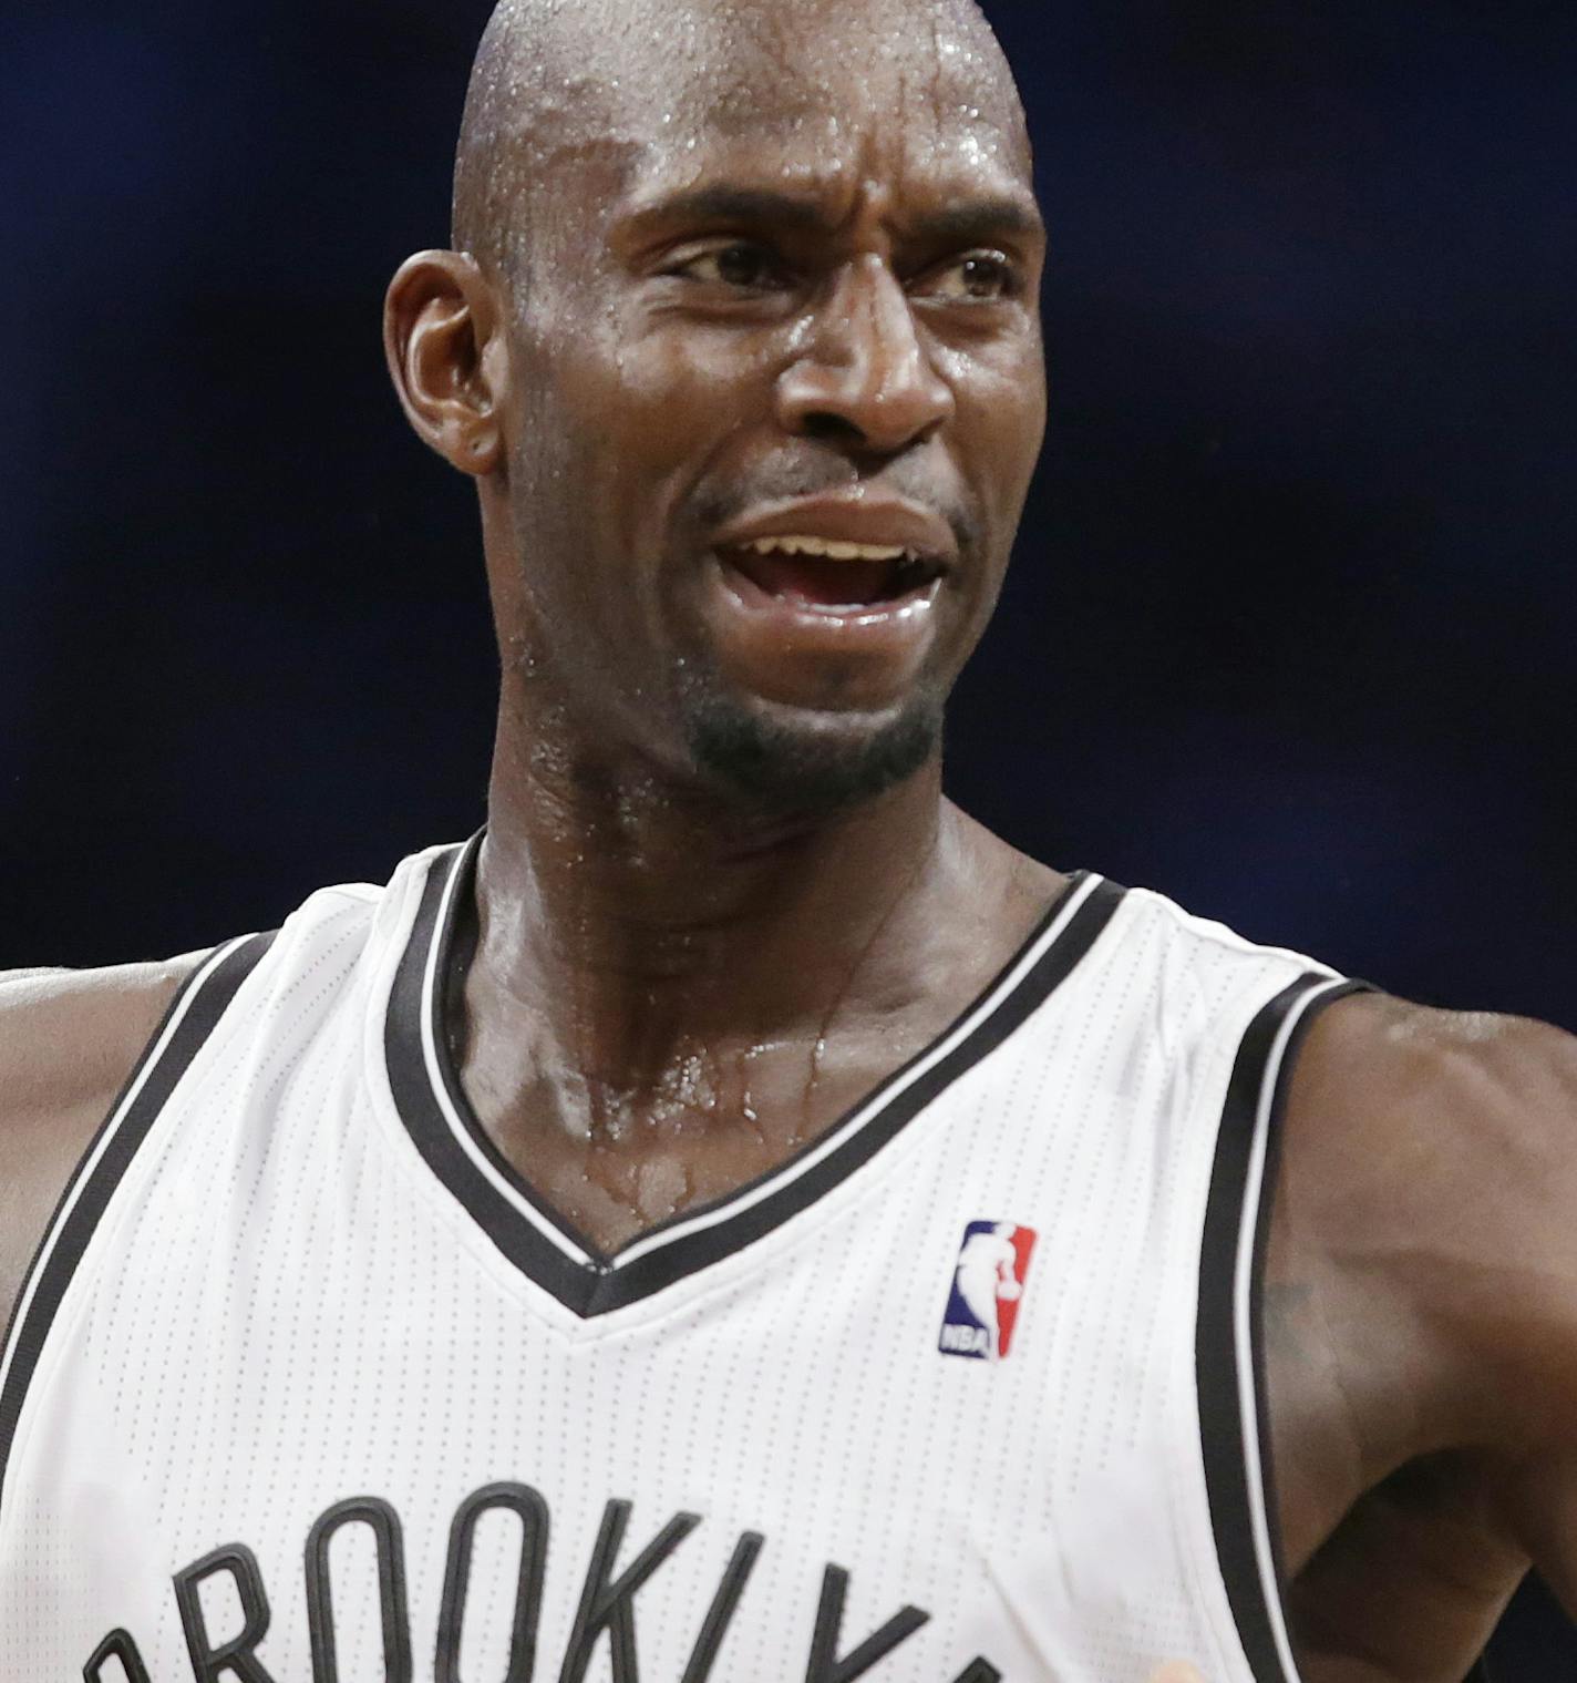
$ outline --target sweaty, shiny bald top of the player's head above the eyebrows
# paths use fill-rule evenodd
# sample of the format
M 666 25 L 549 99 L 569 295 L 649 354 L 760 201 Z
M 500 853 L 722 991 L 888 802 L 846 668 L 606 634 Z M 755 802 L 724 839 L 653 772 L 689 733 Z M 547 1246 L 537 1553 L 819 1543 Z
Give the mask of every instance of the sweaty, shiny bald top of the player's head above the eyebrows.
M 873 150 L 889 167 L 1030 170 L 1012 72 L 973 0 L 503 0 L 466 128 L 463 170 L 485 145 L 498 209 L 502 175 L 530 188 L 579 162 L 613 192 L 720 148 L 784 175 Z

